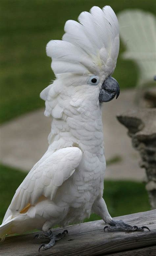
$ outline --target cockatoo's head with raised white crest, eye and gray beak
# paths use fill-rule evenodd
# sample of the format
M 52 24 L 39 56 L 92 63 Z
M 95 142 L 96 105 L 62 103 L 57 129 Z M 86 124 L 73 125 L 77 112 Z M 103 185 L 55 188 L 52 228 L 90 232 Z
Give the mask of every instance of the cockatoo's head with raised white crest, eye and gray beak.
M 110 6 L 102 10 L 94 6 L 78 20 L 68 20 L 63 39 L 47 44 L 56 79 L 40 94 L 46 116 L 61 118 L 69 105 L 73 111 L 80 107 L 92 111 L 119 96 L 119 85 L 111 76 L 119 51 L 116 14 Z

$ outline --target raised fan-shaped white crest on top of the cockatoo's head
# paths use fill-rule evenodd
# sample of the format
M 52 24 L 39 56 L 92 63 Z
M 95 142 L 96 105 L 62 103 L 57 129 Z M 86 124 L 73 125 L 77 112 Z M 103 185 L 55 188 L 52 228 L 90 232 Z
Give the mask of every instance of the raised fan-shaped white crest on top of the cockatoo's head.
M 119 29 L 116 14 L 110 6 L 82 12 L 79 22 L 68 20 L 61 40 L 47 44 L 56 77 L 62 73 L 111 75 L 119 51 Z M 41 95 L 42 97 L 42 95 Z

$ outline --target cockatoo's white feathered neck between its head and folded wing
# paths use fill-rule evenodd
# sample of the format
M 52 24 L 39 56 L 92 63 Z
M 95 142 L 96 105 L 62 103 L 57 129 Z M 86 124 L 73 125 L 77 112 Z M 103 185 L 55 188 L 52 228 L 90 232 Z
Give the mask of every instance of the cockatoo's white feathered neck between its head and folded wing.
M 76 146 L 82 151 L 101 154 L 103 151 L 102 113 L 100 106 L 91 109 L 70 109 L 62 119 L 52 120 L 49 148 L 57 150 Z

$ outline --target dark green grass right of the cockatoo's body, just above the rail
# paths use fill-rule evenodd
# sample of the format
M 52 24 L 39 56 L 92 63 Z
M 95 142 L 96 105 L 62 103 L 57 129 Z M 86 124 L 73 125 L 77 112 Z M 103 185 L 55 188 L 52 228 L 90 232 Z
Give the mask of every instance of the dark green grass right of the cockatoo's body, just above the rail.
M 105 181 L 103 198 L 112 217 L 151 210 L 145 185 L 140 182 Z M 97 219 L 101 218 L 91 214 L 85 221 Z

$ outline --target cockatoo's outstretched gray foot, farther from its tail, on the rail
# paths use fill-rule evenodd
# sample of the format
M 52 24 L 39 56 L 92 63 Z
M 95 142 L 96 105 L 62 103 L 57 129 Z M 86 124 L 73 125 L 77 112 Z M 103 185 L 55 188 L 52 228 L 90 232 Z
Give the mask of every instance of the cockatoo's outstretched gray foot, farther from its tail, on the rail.
M 138 227 L 138 226 L 131 226 L 127 223 L 125 223 L 123 220 L 112 220 L 110 223 L 110 226 L 104 227 L 104 231 L 117 231 L 117 230 L 122 230 L 122 231 L 144 231 L 144 229 L 150 229 L 146 226 Z M 105 231 L 106 232 L 106 231 Z

